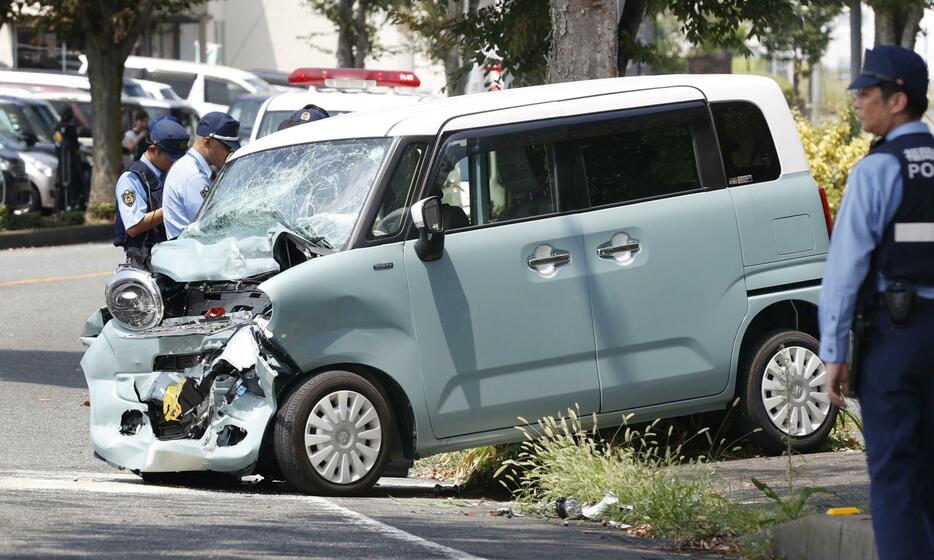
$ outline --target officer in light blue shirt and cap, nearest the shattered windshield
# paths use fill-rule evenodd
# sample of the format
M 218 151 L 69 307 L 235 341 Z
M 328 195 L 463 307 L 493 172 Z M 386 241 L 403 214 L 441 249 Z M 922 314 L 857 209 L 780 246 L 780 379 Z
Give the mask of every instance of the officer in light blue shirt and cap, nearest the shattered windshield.
M 165 180 L 165 229 L 178 237 L 201 210 L 211 190 L 211 167 L 220 169 L 240 148 L 240 123 L 227 113 L 212 112 L 198 122 L 195 143 Z

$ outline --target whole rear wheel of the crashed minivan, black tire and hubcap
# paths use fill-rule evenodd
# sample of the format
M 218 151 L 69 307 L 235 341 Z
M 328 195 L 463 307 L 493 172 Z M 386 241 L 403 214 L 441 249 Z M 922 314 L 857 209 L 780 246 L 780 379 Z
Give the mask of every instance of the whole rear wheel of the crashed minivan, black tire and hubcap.
M 789 432 L 793 451 L 816 450 L 837 419 L 823 381 L 817 339 L 796 330 L 773 331 L 751 350 L 737 392 L 743 433 L 771 453 L 787 449 Z M 790 385 L 783 381 L 785 373 L 791 375 Z

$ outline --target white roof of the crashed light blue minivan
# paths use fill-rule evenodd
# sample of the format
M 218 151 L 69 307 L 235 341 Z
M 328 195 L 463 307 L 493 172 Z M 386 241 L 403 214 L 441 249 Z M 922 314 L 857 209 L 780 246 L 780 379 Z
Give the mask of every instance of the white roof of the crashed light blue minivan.
M 543 118 L 534 115 L 541 114 L 542 107 L 548 104 L 614 93 L 633 94 L 627 97 L 626 106 L 615 107 L 617 109 L 670 102 L 659 99 L 659 88 L 679 88 L 682 92 L 685 88 L 693 88 L 697 98 L 706 98 L 708 101 L 741 100 L 754 103 L 769 123 L 783 172 L 807 171 L 807 159 L 800 137 L 778 85 L 770 78 L 734 74 L 632 76 L 585 80 L 449 97 L 365 114 L 351 113 L 270 134 L 237 150 L 233 157 L 243 157 L 280 146 L 324 140 L 434 136 L 448 121 L 465 116 L 471 117 L 464 119 L 469 121 L 469 126 L 465 128 L 493 126 L 502 124 L 501 115 L 494 112 L 504 109 L 529 108 L 528 118 L 535 120 Z M 681 94 L 682 97 L 684 95 Z M 560 113 L 562 107 L 552 105 L 550 109 Z M 591 112 L 603 110 L 607 109 L 595 107 Z M 586 112 L 575 111 L 575 114 Z

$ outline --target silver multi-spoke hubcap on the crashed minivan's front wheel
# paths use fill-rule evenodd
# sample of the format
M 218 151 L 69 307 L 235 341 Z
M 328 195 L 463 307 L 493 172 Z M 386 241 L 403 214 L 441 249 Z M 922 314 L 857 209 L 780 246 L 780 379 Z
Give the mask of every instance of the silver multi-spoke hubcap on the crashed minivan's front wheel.
M 355 391 L 335 391 L 318 401 L 305 424 L 305 452 L 329 482 L 350 484 L 365 476 L 382 443 L 379 415 Z

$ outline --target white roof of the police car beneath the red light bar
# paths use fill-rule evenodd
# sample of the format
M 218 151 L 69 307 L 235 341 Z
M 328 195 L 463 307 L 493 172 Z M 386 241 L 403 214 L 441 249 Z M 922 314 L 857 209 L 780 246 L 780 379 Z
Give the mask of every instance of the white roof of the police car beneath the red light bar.
M 279 93 L 266 103 L 265 112 L 295 112 L 313 103 L 325 111 L 355 113 L 359 111 L 378 111 L 412 105 L 430 96 L 420 94 L 396 93 L 390 88 L 379 90 L 305 90 Z

